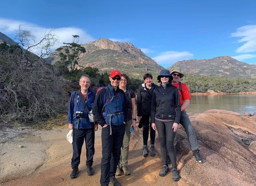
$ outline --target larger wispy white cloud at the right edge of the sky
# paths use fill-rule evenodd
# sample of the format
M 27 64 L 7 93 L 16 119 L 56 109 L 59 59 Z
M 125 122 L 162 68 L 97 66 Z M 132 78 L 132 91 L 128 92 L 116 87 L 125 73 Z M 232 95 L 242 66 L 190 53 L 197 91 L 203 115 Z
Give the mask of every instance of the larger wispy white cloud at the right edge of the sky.
M 243 43 L 243 45 L 237 48 L 236 52 L 246 53 L 256 51 L 256 25 L 239 27 L 231 36 L 242 38 L 238 42 Z

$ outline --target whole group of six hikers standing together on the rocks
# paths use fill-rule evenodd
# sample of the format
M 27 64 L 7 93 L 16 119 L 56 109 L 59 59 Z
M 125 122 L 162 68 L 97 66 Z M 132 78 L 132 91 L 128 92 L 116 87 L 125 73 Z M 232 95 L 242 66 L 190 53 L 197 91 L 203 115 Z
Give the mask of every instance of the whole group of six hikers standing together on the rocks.
M 157 76 L 157 86 L 153 76 L 146 73 L 144 83 L 137 92 L 137 118 L 135 93 L 127 87 L 129 77 L 114 70 L 109 75 L 110 83 L 99 88 L 97 93 L 90 89 L 89 75 L 82 75 L 79 80 L 81 89 L 71 94 L 68 123 L 73 129 L 73 156 L 70 177 L 79 173 L 81 149 L 85 140 L 87 174 L 93 175 L 93 156 L 95 153 L 95 131 L 101 129 L 102 159 L 100 185 L 121 186 L 115 176 L 129 175 L 128 152 L 131 132 L 143 128 L 143 156 L 155 156 L 155 136 L 158 132 L 163 166 L 159 172 L 165 176 L 171 170 L 173 181 L 180 179 L 177 170 L 174 138 L 180 123 L 188 137 L 193 157 L 202 163 L 198 141 L 185 108 L 189 105 L 190 94 L 187 86 L 179 80 L 184 74 L 178 68 L 163 69 Z M 93 113 L 94 122 L 89 115 Z M 150 131 L 150 147 L 148 138 Z M 171 167 L 169 167 L 171 164 Z

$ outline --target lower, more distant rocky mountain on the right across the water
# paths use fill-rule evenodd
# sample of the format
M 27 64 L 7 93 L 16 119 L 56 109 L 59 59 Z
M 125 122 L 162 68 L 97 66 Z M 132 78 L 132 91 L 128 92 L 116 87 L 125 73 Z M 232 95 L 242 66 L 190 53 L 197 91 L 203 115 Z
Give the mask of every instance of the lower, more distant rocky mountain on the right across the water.
M 256 78 L 256 65 L 240 62 L 230 56 L 178 61 L 167 69 L 171 68 L 179 68 L 185 73 L 192 74 Z

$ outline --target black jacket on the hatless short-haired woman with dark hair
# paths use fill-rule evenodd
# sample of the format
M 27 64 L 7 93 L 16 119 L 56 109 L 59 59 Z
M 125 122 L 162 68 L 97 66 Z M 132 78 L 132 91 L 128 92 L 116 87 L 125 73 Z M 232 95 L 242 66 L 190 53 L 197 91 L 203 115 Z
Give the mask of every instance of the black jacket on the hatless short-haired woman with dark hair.
M 152 95 L 156 87 L 158 87 L 157 85 L 152 83 L 152 88 L 149 92 L 147 91 L 145 86 L 146 86 L 145 83 L 143 83 L 139 87 L 139 90 L 137 93 L 137 116 L 151 114 Z

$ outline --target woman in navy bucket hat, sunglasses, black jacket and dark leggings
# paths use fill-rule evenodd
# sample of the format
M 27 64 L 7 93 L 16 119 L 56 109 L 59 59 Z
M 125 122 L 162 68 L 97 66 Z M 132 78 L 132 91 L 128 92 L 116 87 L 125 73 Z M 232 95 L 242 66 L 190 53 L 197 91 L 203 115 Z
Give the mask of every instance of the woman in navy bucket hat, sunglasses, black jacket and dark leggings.
M 178 89 L 172 86 L 173 77 L 169 70 L 161 70 L 157 76 L 160 84 L 152 95 L 151 103 L 151 124 L 154 130 L 157 129 L 163 159 L 163 168 L 160 176 L 165 176 L 170 170 L 167 163 L 167 150 L 172 163 L 173 181 L 180 179 L 177 170 L 176 152 L 173 145 L 176 130 L 180 122 L 181 103 Z

